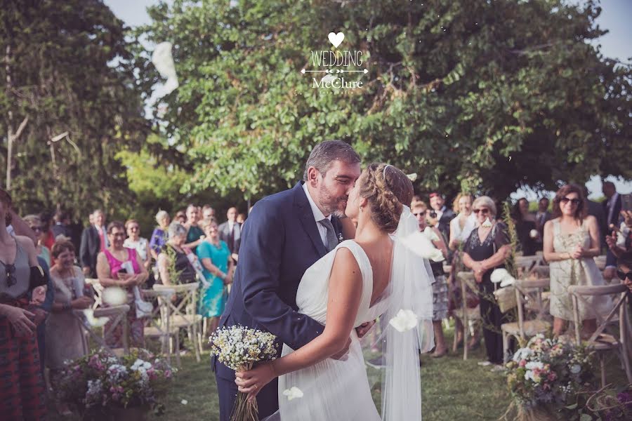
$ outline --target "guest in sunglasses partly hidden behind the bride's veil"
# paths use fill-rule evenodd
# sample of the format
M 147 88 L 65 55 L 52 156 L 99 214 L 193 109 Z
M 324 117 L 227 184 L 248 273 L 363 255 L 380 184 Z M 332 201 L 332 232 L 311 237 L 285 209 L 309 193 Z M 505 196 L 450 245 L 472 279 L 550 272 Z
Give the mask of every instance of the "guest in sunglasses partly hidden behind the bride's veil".
M 428 227 L 426 222 L 426 203 L 413 202 L 410 206 L 413 215 L 419 222 L 419 231 L 422 231 Z M 431 227 L 433 232 L 438 237 L 433 241 L 435 247 L 441 250 L 444 258 L 447 258 L 447 246 L 442 232 L 437 227 Z M 447 346 L 445 345 L 445 338 L 443 335 L 442 321 L 447 317 L 448 311 L 448 286 L 445 279 L 445 272 L 443 272 L 443 262 L 430 262 L 430 267 L 433 269 L 433 275 L 435 276 L 435 283 L 433 283 L 433 330 L 435 333 L 435 352 L 433 352 L 433 358 L 441 358 L 447 354 Z

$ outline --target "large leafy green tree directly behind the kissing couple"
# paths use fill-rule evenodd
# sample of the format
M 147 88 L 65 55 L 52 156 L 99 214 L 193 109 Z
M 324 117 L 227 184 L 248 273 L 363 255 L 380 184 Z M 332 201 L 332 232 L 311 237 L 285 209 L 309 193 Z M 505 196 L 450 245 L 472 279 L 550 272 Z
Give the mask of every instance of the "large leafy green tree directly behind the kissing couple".
M 180 88 L 162 104 L 194 168 L 185 190 L 270 194 L 331 138 L 418 173 L 422 191 L 502 198 L 632 178 L 612 162 L 632 152 L 632 71 L 590 44 L 605 33 L 592 1 L 175 0 L 149 12 L 138 34 L 174 45 Z M 345 79 L 363 88 L 314 89 L 301 74 L 310 51 L 336 51 L 331 31 L 345 34 L 338 51 L 362 51 L 368 74 Z M 146 68 L 148 92 L 158 77 Z

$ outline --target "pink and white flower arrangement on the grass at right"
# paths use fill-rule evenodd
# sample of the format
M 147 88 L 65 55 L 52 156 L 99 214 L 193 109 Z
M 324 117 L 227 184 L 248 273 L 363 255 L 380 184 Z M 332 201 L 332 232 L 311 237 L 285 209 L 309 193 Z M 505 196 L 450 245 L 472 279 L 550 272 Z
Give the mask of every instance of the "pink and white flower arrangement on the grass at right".
M 580 389 L 593 381 L 592 356 L 570 340 L 544 335 L 531 338 L 506 365 L 507 385 L 514 399 L 508 413 L 518 409 L 516 419 L 529 420 L 545 419 L 543 410 L 551 414 L 570 410 Z

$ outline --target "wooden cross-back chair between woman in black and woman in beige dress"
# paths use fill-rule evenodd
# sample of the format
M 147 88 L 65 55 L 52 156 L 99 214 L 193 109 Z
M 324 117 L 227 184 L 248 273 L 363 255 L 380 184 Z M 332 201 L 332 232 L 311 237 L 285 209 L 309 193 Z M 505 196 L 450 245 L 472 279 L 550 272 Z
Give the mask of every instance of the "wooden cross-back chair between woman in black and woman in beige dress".
M 544 288 L 548 288 L 549 279 L 518 279 L 513 284 L 515 288 L 515 299 L 518 303 L 518 321 L 503 323 L 501 331 L 503 333 L 503 361 L 508 361 L 509 338 L 531 338 L 538 333 L 546 333 L 551 329 L 551 323 L 546 321 L 547 306 L 542 298 Z M 527 307 L 527 303 L 531 304 Z M 525 317 L 525 310 L 535 313 L 533 319 Z

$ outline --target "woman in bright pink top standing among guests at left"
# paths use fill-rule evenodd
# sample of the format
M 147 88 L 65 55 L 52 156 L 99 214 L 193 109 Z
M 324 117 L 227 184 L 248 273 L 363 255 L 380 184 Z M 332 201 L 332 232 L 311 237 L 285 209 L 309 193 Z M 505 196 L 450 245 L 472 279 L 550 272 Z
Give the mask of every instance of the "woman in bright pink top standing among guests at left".
M 133 346 L 143 345 L 143 319 L 136 318 L 134 300 L 136 295 L 134 288 L 143 285 L 149 276 L 147 269 L 140 264 L 136 250 L 123 246 L 125 241 L 125 226 L 122 222 L 114 221 L 107 225 L 107 237 L 109 246 L 98 254 L 96 272 L 99 283 L 104 288 L 118 286 L 127 293 L 127 304 L 130 306 L 127 312 L 130 342 Z M 132 270 L 129 270 L 129 269 Z M 132 273 L 130 273 L 132 272 Z M 105 323 L 105 331 L 110 330 L 111 321 Z M 105 343 L 114 348 L 123 346 L 123 326 L 119 323 L 114 331 L 105 338 Z

